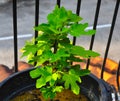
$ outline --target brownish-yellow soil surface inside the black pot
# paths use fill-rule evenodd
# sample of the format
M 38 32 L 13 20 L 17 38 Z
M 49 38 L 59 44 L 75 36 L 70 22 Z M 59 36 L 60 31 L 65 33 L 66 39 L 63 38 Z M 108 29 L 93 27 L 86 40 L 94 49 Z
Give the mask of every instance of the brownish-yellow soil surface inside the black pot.
M 70 90 L 58 93 L 53 100 L 45 100 L 39 90 L 33 89 L 21 92 L 10 101 L 89 101 L 83 94 L 75 95 Z

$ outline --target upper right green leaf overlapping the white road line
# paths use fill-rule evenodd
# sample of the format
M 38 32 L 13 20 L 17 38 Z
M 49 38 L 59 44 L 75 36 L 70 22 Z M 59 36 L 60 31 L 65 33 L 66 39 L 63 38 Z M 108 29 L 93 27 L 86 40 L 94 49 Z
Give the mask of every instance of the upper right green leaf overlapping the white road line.
M 95 30 L 86 30 L 86 28 L 88 27 L 88 23 L 85 24 L 73 24 L 71 26 L 71 30 L 70 30 L 70 34 L 72 36 L 80 36 L 80 35 L 93 35 L 95 34 Z

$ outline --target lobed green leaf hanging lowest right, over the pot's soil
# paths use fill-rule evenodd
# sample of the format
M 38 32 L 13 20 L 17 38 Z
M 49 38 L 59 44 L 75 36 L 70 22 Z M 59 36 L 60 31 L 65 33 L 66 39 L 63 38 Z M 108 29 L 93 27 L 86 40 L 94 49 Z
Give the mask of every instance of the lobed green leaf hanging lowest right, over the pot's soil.
M 65 81 L 64 86 L 65 89 L 68 89 L 71 87 L 71 90 L 75 94 L 79 94 L 80 92 L 80 87 L 77 84 L 77 81 L 81 83 L 81 79 L 78 75 L 75 75 L 74 70 L 70 70 L 69 74 L 65 73 L 62 78 L 63 81 Z

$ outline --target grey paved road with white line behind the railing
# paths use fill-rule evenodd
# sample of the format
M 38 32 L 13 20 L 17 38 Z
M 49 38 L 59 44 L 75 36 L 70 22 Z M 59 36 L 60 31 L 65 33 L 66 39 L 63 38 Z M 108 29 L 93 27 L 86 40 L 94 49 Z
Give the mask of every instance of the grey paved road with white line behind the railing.
M 7 0 L 6 0 L 7 1 Z M 77 0 L 62 0 L 61 5 L 67 9 L 76 12 Z M 102 0 L 100 16 L 98 21 L 98 29 L 96 33 L 94 50 L 100 52 L 104 56 L 105 47 L 107 44 L 110 24 L 112 21 L 113 11 L 116 0 Z M 34 0 L 18 0 L 18 60 L 21 59 L 20 49 L 23 47 L 26 40 L 34 36 L 32 30 L 34 26 Z M 40 0 L 40 23 L 46 22 L 47 14 L 54 8 L 56 0 Z M 95 8 L 97 0 L 83 0 L 81 5 L 80 15 L 84 18 L 83 22 L 88 22 L 89 26 L 93 25 Z M 0 4 L 0 64 L 5 64 L 9 67 L 14 65 L 14 49 L 13 49 L 13 25 L 12 25 L 12 3 L 5 2 Z M 101 27 L 101 28 L 100 28 Z M 115 30 L 111 42 L 108 57 L 118 62 L 120 60 L 120 10 L 117 16 Z M 77 44 L 89 47 L 90 37 L 80 37 L 77 39 Z

